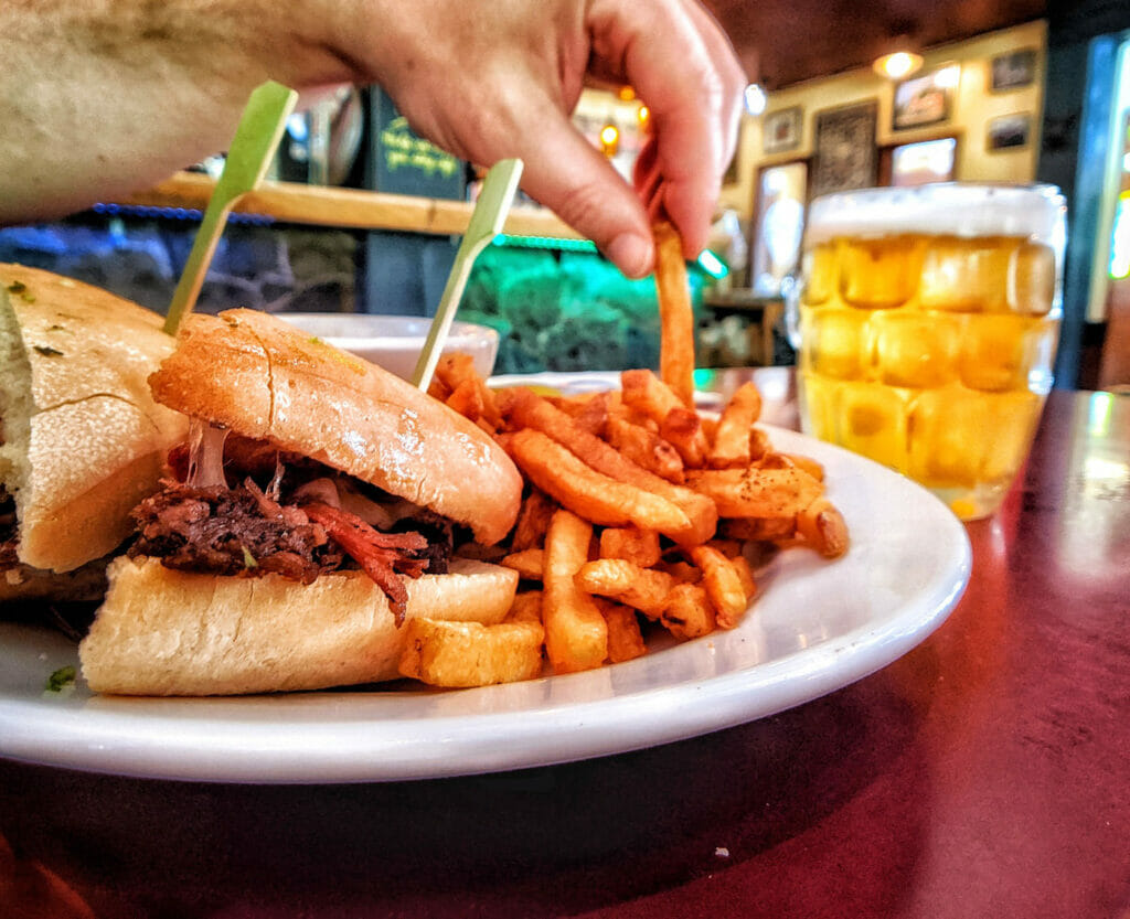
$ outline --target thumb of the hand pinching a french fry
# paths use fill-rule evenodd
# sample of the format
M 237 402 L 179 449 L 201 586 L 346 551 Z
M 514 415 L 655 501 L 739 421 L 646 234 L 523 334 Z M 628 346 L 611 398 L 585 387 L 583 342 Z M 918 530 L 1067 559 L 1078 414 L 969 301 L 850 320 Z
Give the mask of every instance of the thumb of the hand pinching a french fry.
M 525 192 L 592 240 L 629 278 L 647 275 L 654 261 L 651 227 L 611 163 L 556 111 L 527 137 L 519 154 Z

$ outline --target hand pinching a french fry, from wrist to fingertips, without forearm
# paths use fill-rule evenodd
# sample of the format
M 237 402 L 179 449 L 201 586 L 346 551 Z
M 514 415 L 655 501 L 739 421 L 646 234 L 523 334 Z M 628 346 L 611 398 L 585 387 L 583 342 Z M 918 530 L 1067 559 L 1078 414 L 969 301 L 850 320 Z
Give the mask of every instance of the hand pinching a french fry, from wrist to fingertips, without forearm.
M 746 77 L 695 0 L 392 0 L 366 10 L 367 27 L 354 21 L 339 41 L 357 77 L 380 83 L 417 132 L 479 165 L 523 159 L 523 189 L 629 277 L 654 259 L 644 205 L 661 206 L 688 258 L 705 246 Z M 637 193 L 570 120 L 593 80 L 631 85 L 651 110 Z

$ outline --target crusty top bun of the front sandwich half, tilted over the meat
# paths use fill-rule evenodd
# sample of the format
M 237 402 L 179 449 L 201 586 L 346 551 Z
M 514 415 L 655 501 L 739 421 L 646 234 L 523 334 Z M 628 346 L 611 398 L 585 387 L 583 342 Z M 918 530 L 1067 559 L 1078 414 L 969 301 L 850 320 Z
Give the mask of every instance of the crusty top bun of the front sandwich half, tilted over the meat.
M 268 313 L 190 315 L 149 382 L 169 408 L 311 457 L 486 545 L 514 524 L 522 479 L 498 444 L 399 376 Z

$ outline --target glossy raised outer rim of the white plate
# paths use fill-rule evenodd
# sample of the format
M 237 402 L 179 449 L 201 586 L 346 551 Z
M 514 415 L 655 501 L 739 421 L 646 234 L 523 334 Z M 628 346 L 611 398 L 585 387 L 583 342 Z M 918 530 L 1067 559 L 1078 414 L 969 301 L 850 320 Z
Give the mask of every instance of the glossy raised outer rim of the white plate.
M 85 705 L 52 706 L 51 701 L 43 699 L 14 700 L 0 694 L 0 756 L 80 771 L 185 781 L 332 783 L 450 778 L 547 766 L 675 743 L 757 720 L 850 685 L 898 659 L 945 622 L 968 584 L 972 571 L 968 534 L 945 504 L 897 472 L 796 431 L 773 425 L 765 427 L 771 436 L 797 439 L 801 444 L 811 444 L 819 453 L 836 457 L 847 465 L 847 474 L 853 465 L 861 463 L 861 468 L 872 476 L 890 477 L 888 483 L 897 482 L 901 483 L 898 487 L 919 493 L 919 498 L 927 501 L 927 506 L 932 506 L 940 520 L 950 521 L 947 539 L 937 540 L 939 546 L 946 547 L 948 556 L 942 560 L 939 554 L 942 573 L 936 578 L 935 589 L 909 596 L 881 618 L 869 618 L 809 648 L 709 678 L 681 679 L 603 699 L 556 704 L 547 701 L 533 708 L 470 717 L 466 713 L 415 717 L 381 722 L 376 730 L 372 722 L 339 718 L 321 722 L 290 721 L 280 734 L 278 722 L 255 719 L 255 708 L 249 705 L 250 721 L 225 720 L 224 729 L 219 730 L 206 718 L 189 718 L 179 723 L 191 730 L 182 731 L 172 742 L 166 730 L 162 740 L 155 744 L 146 739 L 146 730 L 151 729 L 154 720 L 169 722 L 167 717 L 90 711 Z M 855 538 L 853 532 L 853 540 Z M 837 561 L 826 564 L 834 565 Z M 689 644 L 690 650 L 685 643 L 658 653 L 694 653 L 695 648 L 706 647 L 711 639 L 707 635 L 695 640 Z M 2 652 L 0 648 L 0 657 Z M 797 678 L 798 660 L 807 665 L 800 679 Z M 634 661 L 608 665 L 591 673 L 632 664 Z M 549 676 L 532 683 L 584 676 Z M 489 693 L 496 688 L 454 692 Z M 688 693 L 706 693 L 712 704 L 673 704 L 680 700 L 685 702 Z M 410 693 L 412 696 L 426 694 L 429 691 Z M 341 695 L 364 697 L 348 688 L 294 694 L 331 700 Z M 269 699 L 286 700 L 288 696 Z M 130 701 L 125 700 L 125 705 Z M 200 703 L 200 700 L 185 701 Z M 242 701 L 223 700 L 229 705 L 238 705 Z M 144 704 L 145 700 L 141 702 Z M 664 717 L 653 717 L 643 725 L 633 721 L 633 714 L 641 706 L 653 711 L 661 709 Z M 47 712 L 53 713 L 46 726 L 51 736 L 44 739 L 43 716 Z M 594 722 L 600 727 L 593 728 Z M 414 743 L 408 735 L 420 723 L 426 723 L 434 736 Z M 106 725 L 114 729 L 112 737 L 107 736 Z M 498 726 L 506 728 L 505 743 L 497 743 Z M 626 730 L 629 727 L 632 730 Z M 233 735 L 238 736 L 235 743 Z M 563 745 L 563 738 L 568 743 Z M 330 739 L 336 743 L 318 743 Z M 296 745 L 298 740 L 305 744 Z M 454 762 L 450 756 L 440 755 L 457 748 L 460 756 Z

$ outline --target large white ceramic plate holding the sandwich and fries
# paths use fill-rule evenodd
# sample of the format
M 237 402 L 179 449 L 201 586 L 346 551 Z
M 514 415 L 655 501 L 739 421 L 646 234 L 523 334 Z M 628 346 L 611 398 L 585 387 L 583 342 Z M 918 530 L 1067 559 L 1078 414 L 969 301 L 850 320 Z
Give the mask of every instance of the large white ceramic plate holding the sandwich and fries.
M 75 647 L 0 624 L 0 755 L 80 770 L 234 782 L 385 781 L 490 772 L 619 753 L 730 727 L 889 664 L 957 602 L 970 544 L 907 479 L 772 428 L 825 465 L 851 528 L 835 562 L 793 549 L 762 572 L 741 625 L 636 660 L 459 692 L 336 691 L 244 699 L 44 691 Z

